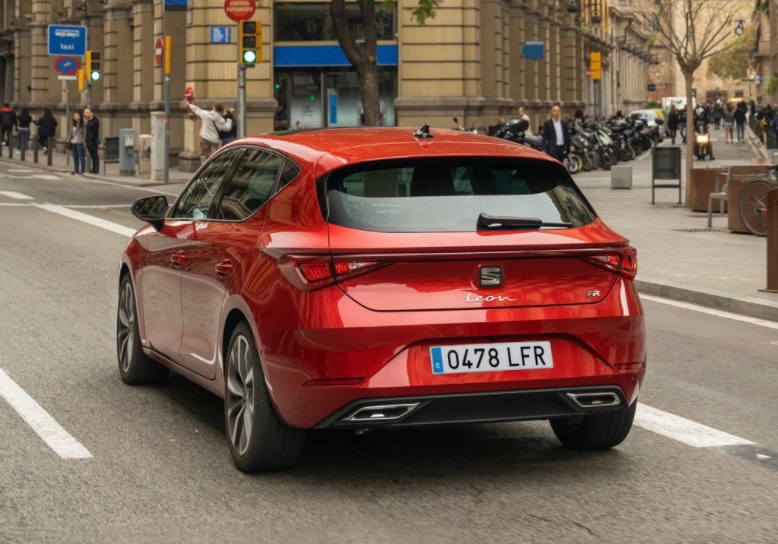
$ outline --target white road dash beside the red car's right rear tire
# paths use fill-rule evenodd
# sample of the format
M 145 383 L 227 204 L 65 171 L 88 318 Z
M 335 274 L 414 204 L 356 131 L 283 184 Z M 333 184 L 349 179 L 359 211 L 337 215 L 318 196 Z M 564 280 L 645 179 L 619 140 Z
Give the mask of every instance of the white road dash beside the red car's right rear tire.
M 635 425 L 695 448 L 753 444 L 745 438 L 640 403 L 635 414 Z

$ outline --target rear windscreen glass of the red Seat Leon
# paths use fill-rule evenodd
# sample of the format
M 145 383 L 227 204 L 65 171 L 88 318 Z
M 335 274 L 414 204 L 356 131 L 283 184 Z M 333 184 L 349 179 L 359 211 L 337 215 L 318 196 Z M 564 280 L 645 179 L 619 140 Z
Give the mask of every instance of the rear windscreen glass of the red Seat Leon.
M 596 219 L 567 171 L 546 161 L 367 163 L 332 172 L 326 188 L 327 220 L 368 231 L 470 232 L 478 230 L 481 214 L 532 219 L 540 228 L 575 228 Z

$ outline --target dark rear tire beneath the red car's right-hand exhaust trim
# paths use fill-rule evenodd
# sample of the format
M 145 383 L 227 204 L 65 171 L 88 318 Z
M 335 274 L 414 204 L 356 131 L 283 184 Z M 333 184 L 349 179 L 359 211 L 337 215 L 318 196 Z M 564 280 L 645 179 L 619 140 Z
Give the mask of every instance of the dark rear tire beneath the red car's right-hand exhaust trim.
M 571 450 L 607 450 L 627 438 L 637 405 L 635 401 L 632 406 L 612 412 L 552 419 L 551 429 Z

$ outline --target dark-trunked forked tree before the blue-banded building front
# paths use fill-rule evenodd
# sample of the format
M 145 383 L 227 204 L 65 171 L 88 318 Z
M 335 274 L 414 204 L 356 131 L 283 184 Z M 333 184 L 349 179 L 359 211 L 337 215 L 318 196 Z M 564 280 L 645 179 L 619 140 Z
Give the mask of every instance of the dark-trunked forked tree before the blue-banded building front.
M 354 66 L 359 78 L 359 89 L 364 108 L 364 123 L 369 127 L 381 126 L 383 116 L 378 94 L 378 32 L 376 28 L 375 0 L 356 0 L 361 15 L 359 36 L 356 29 L 349 24 L 346 12 L 346 0 L 332 0 L 330 16 L 332 17 L 335 35 L 338 38 L 343 53 Z M 395 5 L 393 0 L 384 0 L 378 9 L 390 9 Z M 427 19 L 435 17 L 437 0 L 418 0 L 418 5 L 410 10 L 411 17 L 423 25 Z

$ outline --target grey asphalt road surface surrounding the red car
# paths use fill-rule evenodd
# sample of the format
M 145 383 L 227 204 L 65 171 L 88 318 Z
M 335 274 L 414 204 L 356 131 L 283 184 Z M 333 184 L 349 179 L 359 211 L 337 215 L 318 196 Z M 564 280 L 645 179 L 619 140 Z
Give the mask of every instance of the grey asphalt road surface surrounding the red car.
M 646 299 L 647 410 L 608 452 L 568 451 L 542 422 L 320 432 L 294 470 L 245 475 L 219 399 L 119 380 L 118 258 L 129 205 L 154 191 L 11 170 L 0 378 L 89 456 L 61 457 L 0 399 L 0 543 L 778 540 L 778 324 Z

